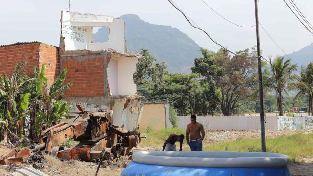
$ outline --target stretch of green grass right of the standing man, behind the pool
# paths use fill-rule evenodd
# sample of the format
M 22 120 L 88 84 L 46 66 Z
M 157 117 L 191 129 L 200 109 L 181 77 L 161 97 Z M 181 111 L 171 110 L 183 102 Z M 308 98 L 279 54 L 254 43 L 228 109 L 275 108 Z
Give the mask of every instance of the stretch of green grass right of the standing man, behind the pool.
M 260 138 L 239 139 L 203 147 L 205 151 L 261 152 Z M 267 152 L 286 154 L 291 162 L 301 162 L 305 156 L 313 156 L 313 134 L 294 134 L 266 139 Z

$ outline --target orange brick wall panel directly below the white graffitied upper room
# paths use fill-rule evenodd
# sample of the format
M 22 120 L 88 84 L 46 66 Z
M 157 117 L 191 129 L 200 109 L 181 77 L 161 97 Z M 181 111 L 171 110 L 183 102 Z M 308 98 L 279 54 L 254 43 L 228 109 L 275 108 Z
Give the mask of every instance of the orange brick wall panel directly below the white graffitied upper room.
M 104 58 L 73 57 L 61 61 L 62 68 L 68 69 L 66 83 L 73 83 L 64 97 L 104 96 Z

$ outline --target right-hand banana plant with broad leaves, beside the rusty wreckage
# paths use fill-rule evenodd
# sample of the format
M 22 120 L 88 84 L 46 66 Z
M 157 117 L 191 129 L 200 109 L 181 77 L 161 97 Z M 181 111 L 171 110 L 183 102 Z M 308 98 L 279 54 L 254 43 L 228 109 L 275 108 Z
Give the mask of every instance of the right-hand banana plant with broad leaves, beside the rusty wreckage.
M 63 69 L 49 87 L 48 79 L 45 77 L 45 68 L 46 65 L 42 65 L 40 73 L 37 67 L 34 69 L 36 91 L 42 95 L 42 102 L 40 103 L 41 112 L 37 113 L 35 123 L 38 132 L 54 125 L 60 119 L 64 118 L 64 115 L 70 110 L 70 107 L 67 107 L 65 101 L 55 100 L 72 86 L 72 83 L 64 85 L 67 69 Z

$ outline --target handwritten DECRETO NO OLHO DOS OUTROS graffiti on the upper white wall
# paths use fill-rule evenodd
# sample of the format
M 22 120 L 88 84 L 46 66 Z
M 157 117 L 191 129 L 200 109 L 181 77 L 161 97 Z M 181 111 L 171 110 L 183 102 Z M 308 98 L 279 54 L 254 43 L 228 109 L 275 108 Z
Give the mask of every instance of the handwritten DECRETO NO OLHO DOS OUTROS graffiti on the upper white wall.
M 84 42 L 87 32 L 88 32 L 88 29 L 86 28 L 80 28 L 80 27 L 70 26 L 66 24 L 63 24 L 62 26 L 62 35 L 70 36 L 71 40 L 77 41 L 77 42 Z

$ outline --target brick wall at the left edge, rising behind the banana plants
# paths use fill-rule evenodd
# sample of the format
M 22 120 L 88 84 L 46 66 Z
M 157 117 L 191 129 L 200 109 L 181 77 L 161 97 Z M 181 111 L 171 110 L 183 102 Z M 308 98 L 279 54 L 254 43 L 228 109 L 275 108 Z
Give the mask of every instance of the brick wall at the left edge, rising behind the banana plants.
M 40 42 L 23 43 L 11 46 L 0 46 L 0 72 L 11 76 L 15 65 L 22 62 L 25 74 L 33 77 L 34 67 L 41 68 L 46 64 L 45 75 L 51 85 L 60 73 L 60 58 L 57 47 Z

